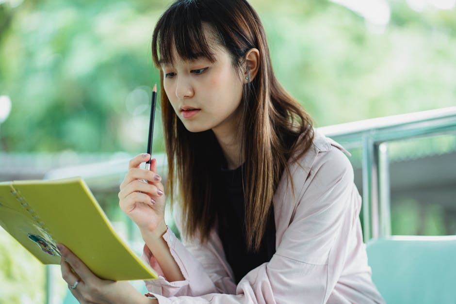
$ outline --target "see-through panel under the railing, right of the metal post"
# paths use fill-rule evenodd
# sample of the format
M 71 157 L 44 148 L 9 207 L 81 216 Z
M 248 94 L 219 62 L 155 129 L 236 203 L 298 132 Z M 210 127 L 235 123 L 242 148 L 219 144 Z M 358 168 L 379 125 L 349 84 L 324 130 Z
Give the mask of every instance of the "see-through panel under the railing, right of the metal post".
M 391 233 L 456 234 L 456 135 L 389 143 Z

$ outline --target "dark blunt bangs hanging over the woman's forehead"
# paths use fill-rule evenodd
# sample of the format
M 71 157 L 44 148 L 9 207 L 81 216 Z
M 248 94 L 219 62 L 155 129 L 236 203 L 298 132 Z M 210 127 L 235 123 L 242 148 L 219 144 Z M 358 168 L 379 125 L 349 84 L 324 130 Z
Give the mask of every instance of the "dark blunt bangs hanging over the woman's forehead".
M 195 1 L 174 3 L 160 17 L 152 38 L 154 64 L 174 64 L 172 49 L 182 60 L 215 57 L 203 31 L 202 13 Z

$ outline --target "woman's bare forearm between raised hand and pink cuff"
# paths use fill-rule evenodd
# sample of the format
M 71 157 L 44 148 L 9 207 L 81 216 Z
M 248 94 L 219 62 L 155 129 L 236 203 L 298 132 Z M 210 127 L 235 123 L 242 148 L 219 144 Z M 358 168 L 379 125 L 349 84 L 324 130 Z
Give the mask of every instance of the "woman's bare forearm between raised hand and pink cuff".
M 167 228 L 163 222 L 163 224 L 158 225 L 153 230 L 141 230 L 141 234 L 150 252 L 162 268 L 166 280 L 168 282 L 183 281 L 185 278 L 180 272 L 179 265 L 171 255 L 168 244 L 163 239 L 163 234 Z

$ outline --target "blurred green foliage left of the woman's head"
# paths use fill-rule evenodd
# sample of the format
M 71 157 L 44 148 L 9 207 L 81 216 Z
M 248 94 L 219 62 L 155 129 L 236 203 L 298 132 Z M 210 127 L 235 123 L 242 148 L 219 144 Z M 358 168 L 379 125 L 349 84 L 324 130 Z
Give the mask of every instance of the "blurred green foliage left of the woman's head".
M 8 10 L 0 92 L 13 107 L 1 126 L 4 148 L 142 150 L 138 138 L 147 138 L 148 126 L 135 118 L 147 116 L 141 105 L 149 105 L 158 80 L 149 40 L 163 8 L 146 1 L 25 1 Z

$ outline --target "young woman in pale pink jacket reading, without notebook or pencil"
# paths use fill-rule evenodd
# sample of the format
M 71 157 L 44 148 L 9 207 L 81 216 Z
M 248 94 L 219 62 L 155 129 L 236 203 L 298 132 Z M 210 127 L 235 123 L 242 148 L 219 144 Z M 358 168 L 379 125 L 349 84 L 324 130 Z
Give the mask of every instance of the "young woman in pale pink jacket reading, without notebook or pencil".
M 143 154 L 130 161 L 119 199 L 146 242 L 143 257 L 160 274 L 146 281 L 156 299 L 98 279 L 59 245 L 75 297 L 383 303 L 346 151 L 316 132 L 277 82 L 253 8 L 245 0 L 178 0 L 157 23 L 152 54 L 164 89 L 167 187 L 155 160 L 150 171 L 140 169 L 151 158 Z M 179 201 L 182 241 L 165 223 L 166 195 Z

